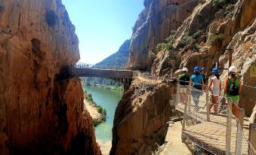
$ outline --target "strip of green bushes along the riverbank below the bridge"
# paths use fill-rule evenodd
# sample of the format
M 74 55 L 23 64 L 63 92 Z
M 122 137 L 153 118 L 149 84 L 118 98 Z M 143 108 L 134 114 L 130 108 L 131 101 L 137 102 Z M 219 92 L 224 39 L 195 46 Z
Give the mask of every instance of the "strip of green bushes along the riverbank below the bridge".
M 106 109 L 103 108 L 101 105 L 97 105 L 96 102 L 94 102 L 94 99 L 92 99 L 91 93 L 84 92 L 85 100 L 92 106 L 97 108 L 98 113 L 100 113 L 101 117 L 98 119 L 93 119 L 94 126 L 97 126 L 100 123 L 106 122 Z

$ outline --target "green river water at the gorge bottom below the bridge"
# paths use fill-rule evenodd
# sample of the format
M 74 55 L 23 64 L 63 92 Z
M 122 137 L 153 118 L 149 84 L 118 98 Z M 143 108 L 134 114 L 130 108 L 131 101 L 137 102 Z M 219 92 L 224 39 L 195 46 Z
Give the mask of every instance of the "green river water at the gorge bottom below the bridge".
M 95 127 L 97 140 L 106 142 L 112 141 L 112 128 L 116 107 L 122 98 L 120 92 L 107 90 L 95 86 L 83 86 L 83 89 L 91 93 L 94 102 L 106 108 L 106 122 Z

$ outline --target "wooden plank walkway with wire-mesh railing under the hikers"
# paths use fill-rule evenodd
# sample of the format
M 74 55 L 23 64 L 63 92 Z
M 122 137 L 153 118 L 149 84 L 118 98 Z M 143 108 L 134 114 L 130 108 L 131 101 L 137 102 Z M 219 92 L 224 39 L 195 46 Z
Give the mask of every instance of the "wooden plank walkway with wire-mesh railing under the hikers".
M 177 84 L 176 109 L 184 113 L 182 135 L 187 141 L 214 154 L 256 154 L 251 138 L 256 125 L 231 99 L 219 96 L 214 106 L 208 90 Z

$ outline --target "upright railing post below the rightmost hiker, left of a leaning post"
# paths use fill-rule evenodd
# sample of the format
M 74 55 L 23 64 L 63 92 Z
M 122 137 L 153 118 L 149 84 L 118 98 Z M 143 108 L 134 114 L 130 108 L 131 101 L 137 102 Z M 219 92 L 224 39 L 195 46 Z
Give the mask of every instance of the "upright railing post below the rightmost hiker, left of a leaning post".
M 226 154 L 230 155 L 231 144 L 231 116 L 232 116 L 232 100 L 228 99 L 227 107 L 227 130 L 226 130 Z

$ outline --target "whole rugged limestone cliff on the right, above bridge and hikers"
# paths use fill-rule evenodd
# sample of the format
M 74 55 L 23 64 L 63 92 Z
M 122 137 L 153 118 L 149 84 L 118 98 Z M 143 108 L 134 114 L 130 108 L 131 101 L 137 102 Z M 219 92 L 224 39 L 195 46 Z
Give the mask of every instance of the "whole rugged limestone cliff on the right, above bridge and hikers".
M 256 85 L 255 78 L 250 77 L 250 69 L 255 65 L 256 56 L 256 1 L 177 1 L 180 5 L 173 5 L 174 1 L 168 1 L 167 10 L 180 8 L 186 11 L 186 4 L 193 4 L 190 5 L 190 12 L 187 14 L 181 14 L 179 11 L 171 13 L 168 10 L 171 15 L 182 19 L 177 25 L 166 14 L 160 14 L 165 11 L 165 9 L 161 10 L 161 6 L 165 5 L 159 4 L 164 2 L 162 0 L 144 2 L 145 9 L 135 23 L 134 35 L 131 38 L 129 62 L 131 68 L 149 66 L 150 57 L 147 51 L 153 50 L 156 59 L 154 58 L 151 71 L 159 76 L 176 76 L 184 66 L 189 68 L 191 74 L 196 65 L 206 67 L 210 75 L 211 68 L 214 67 L 212 62 L 219 60 L 221 68 L 228 68 L 229 51 L 219 49 L 232 48 L 233 65 L 241 70 L 243 84 Z M 153 15 L 158 16 L 153 18 Z M 164 29 L 165 24 L 162 21 L 165 21 L 166 26 L 173 27 Z M 156 44 L 160 42 L 163 43 L 156 48 Z M 227 71 L 221 73 L 222 78 L 227 77 Z M 240 106 L 245 108 L 248 116 L 254 107 L 254 101 L 253 88 L 243 86 Z

